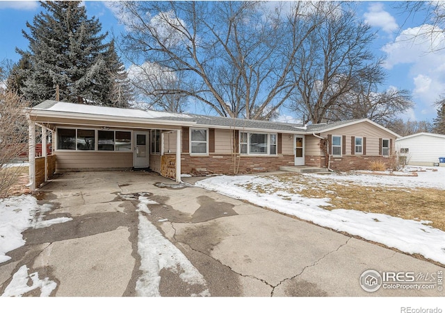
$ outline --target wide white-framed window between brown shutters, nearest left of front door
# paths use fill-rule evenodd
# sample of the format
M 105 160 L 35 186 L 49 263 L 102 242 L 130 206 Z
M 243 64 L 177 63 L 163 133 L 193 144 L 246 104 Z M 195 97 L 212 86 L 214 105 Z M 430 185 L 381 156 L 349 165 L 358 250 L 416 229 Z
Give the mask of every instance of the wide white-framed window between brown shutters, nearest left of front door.
M 276 133 L 239 133 L 241 154 L 277 155 Z

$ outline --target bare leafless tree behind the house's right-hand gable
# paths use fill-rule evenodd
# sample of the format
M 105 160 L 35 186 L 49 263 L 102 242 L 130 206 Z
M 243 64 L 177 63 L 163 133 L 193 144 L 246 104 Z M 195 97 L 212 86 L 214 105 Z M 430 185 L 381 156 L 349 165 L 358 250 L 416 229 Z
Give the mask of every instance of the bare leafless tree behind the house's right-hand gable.
M 330 2 L 327 17 L 306 40 L 295 64 L 298 92 L 293 108 L 305 122 L 368 117 L 381 122 L 410 108 L 406 91 L 378 92 L 385 81 L 382 60 L 370 47 L 371 26 L 353 10 Z M 316 16 L 314 15 L 316 18 Z

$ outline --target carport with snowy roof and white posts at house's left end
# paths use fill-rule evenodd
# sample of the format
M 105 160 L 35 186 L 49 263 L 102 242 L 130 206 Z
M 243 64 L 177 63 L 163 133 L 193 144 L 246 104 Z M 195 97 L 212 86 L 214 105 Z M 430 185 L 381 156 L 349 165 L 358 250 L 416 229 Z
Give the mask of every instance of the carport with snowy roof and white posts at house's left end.
M 151 169 L 180 182 L 181 127 L 195 121 L 176 116 L 44 101 L 28 112 L 30 189 L 68 171 Z

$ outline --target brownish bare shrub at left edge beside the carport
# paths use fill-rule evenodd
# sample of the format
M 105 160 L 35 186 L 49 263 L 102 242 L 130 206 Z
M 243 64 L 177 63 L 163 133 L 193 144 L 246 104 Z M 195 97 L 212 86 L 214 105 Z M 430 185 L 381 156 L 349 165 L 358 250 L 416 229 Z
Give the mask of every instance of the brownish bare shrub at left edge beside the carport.
M 0 87 L 0 198 L 8 196 L 19 170 L 18 167 L 8 167 L 8 164 L 21 156 L 26 157 L 28 124 L 25 107 L 29 107 L 29 103 L 22 97 Z

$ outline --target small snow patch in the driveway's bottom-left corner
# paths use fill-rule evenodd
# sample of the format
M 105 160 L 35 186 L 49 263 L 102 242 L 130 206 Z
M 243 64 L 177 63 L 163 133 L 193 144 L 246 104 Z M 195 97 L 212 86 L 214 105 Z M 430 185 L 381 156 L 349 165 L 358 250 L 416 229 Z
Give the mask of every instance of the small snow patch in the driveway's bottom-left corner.
M 31 284 L 29 282 L 30 279 Z M 13 280 L 11 280 L 1 296 L 20 297 L 26 294 L 26 292 L 40 288 L 40 296 L 47 297 L 54 289 L 56 289 L 56 287 L 56 282 L 49 280 L 47 277 L 41 280 L 37 272 L 28 275 L 28 267 L 23 265 L 17 272 L 14 273 Z

